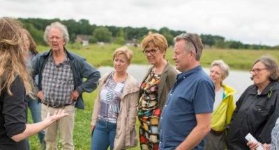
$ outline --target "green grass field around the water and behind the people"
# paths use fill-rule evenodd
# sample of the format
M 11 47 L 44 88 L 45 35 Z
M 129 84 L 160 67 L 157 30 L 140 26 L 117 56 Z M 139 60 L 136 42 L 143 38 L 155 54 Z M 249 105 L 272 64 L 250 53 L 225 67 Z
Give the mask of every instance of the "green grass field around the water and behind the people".
M 112 66 L 112 53 L 120 47 L 119 45 L 97 45 L 93 44 L 89 47 L 82 47 L 80 44 L 68 44 L 67 49 L 73 51 L 86 58 L 86 60 L 95 67 L 100 66 Z M 49 47 L 39 46 L 40 52 L 47 51 Z M 145 56 L 142 53 L 140 47 L 130 47 L 133 50 L 133 62 L 135 64 L 148 64 Z M 249 70 L 252 63 L 262 55 L 270 55 L 279 60 L 279 50 L 267 51 L 267 50 L 234 50 L 234 49 L 204 49 L 201 63 L 203 67 L 209 67 L 213 60 L 223 59 L 225 63 L 232 69 Z M 167 60 L 171 64 L 174 64 L 172 58 L 172 48 L 167 50 Z M 74 129 L 74 143 L 75 149 L 90 149 L 91 134 L 90 134 L 90 122 L 91 113 L 93 110 L 93 103 L 96 98 L 96 91 L 84 93 L 85 110 L 77 110 L 75 117 L 75 129 Z M 31 122 L 31 116 L 29 114 L 29 122 Z M 137 122 L 138 126 L 138 122 Z M 29 138 L 31 143 L 31 149 L 40 149 L 37 135 Z M 61 141 L 59 142 L 59 149 L 61 149 Z M 140 149 L 136 147 L 134 149 Z

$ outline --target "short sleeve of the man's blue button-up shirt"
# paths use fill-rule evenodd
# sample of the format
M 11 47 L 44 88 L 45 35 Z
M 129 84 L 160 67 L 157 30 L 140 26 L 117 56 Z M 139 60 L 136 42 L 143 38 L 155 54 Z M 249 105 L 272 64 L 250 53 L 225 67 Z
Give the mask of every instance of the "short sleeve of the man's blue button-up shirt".
M 214 85 L 210 81 L 199 81 L 195 93 L 193 108 L 195 114 L 212 113 L 215 98 Z

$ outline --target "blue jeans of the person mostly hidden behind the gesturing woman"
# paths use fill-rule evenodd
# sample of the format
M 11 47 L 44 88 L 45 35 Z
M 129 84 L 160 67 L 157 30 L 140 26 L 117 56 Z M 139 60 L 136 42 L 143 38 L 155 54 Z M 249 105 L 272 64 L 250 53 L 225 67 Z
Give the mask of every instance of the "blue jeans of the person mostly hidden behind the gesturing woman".
M 25 101 L 28 102 L 28 107 L 31 111 L 33 123 L 42 122 L 41 103 L 38 101 L 38 99 L 31 99 L 30 97 L 27 96 L 27 97 L 25 97 Z M 45 131 L 40 131 L 38 133 L 38 139 L 40 140 L 40 144 L 43 144 L 44 138 L 45 138 Z M 27 144 L 28 144 L 28 147 L 29 147 L 28 139 L 27 139 Z

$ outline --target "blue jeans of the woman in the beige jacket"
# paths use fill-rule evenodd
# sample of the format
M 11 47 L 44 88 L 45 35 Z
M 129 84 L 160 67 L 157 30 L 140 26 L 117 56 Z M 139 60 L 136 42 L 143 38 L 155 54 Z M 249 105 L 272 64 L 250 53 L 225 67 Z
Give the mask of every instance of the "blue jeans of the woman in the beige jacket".
M 98 120 L 91 138 L 91 150 L 107 150 L 114 148 L 116 124 Z

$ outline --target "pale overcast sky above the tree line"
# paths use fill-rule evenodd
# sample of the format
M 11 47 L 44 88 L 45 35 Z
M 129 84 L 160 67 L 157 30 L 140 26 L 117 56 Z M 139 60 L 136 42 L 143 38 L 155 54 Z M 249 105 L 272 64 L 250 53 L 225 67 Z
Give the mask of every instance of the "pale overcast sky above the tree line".
M 278 0 L 0 0 L 0 17 L 88 19 L 221 35 L 247 44 L 279 44 Z

